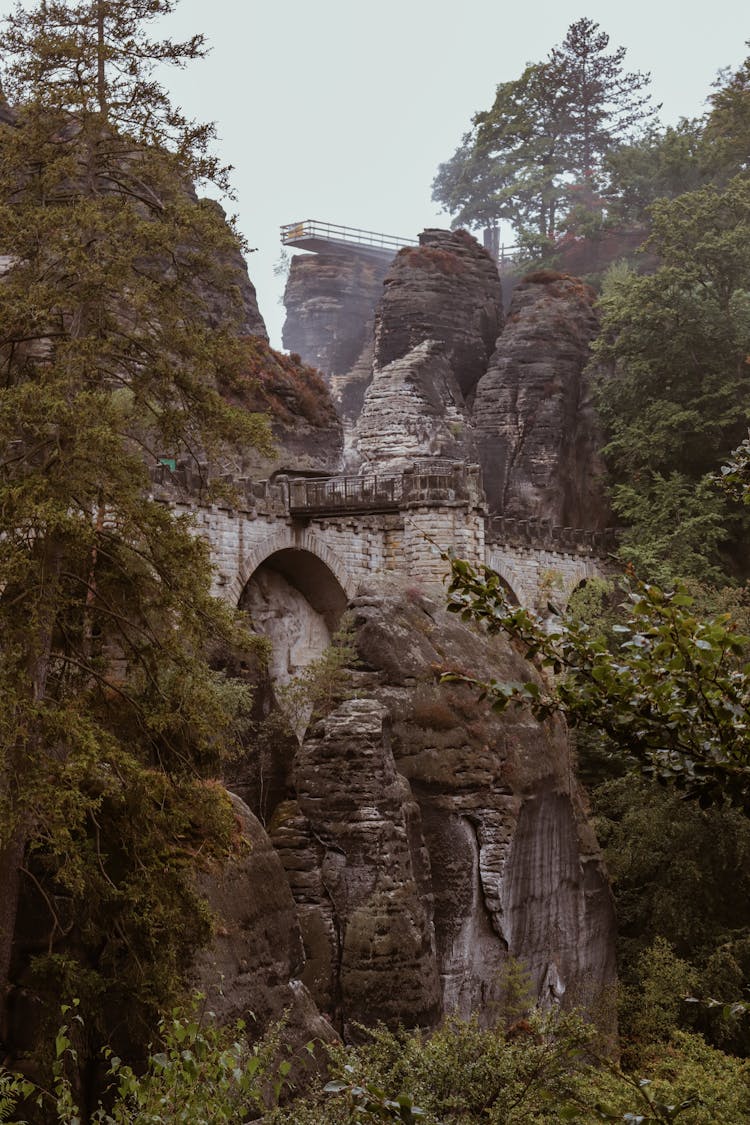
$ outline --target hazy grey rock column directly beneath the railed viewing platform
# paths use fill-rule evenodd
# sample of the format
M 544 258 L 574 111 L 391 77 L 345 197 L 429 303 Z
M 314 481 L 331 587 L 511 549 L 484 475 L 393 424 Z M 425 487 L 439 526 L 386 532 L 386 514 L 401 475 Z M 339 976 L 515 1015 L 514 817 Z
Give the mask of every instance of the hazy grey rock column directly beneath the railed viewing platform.
M 372 332 L 388 262 L 351 254 L 296 254 L 283 295 L 283 346 L 327 376 L 355 363 Z

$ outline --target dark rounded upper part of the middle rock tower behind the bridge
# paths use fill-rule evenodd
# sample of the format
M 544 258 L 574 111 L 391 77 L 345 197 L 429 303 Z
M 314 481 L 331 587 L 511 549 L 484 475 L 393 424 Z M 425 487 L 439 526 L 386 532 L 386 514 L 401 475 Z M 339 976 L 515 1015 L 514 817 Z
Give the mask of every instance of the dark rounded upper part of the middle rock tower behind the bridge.
M 374 330 L 382 369 L 426 340 L 442 344 L 464 397 L 487 369 L 503 325 L 495 262 L 466 231 L 424 231 L 397 254 L 385 281 Z

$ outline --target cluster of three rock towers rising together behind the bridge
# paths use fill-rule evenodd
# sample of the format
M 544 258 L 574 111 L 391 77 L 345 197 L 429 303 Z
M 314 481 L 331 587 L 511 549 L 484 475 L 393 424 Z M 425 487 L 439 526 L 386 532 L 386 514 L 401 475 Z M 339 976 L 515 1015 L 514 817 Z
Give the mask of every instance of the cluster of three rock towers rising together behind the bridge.
M 584 375 L 598 331 L 594 291 L 540 271 L 516 284 L 504 323 L 496 266 L 463 231 L 424 231 L 381 285 L 368 279 L 361 263 L 309 255 L 293 260 L 287 287 L 284 339 L 305 316 L 315 324 L 346 470 L 478 460 L 491 514 L 606 526 Z

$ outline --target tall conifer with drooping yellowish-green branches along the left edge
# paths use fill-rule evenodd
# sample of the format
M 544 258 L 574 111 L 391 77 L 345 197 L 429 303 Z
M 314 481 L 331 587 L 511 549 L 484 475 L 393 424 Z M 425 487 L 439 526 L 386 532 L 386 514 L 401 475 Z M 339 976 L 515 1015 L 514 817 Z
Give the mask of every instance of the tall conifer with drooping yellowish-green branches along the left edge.
M 237 745 L 247 698 L 208 655 L 242 638 L 210 596 L 207 547 L 150 497 L 150 467 L 264 429 L 222 393 L 243 363 L 224 264 L 237 238 L 193 183 L 226 170 L 153 76 L 202 52 L 147 37 L 173 7 L 43 0 L 0 35 L 3 1008 L 28 878 L 53 954 L 53 901 L 76 919 L 78 958 L 49 971 L 153 1010 L 208 933 L 186 856 L 231 837 L 201 778 Z

